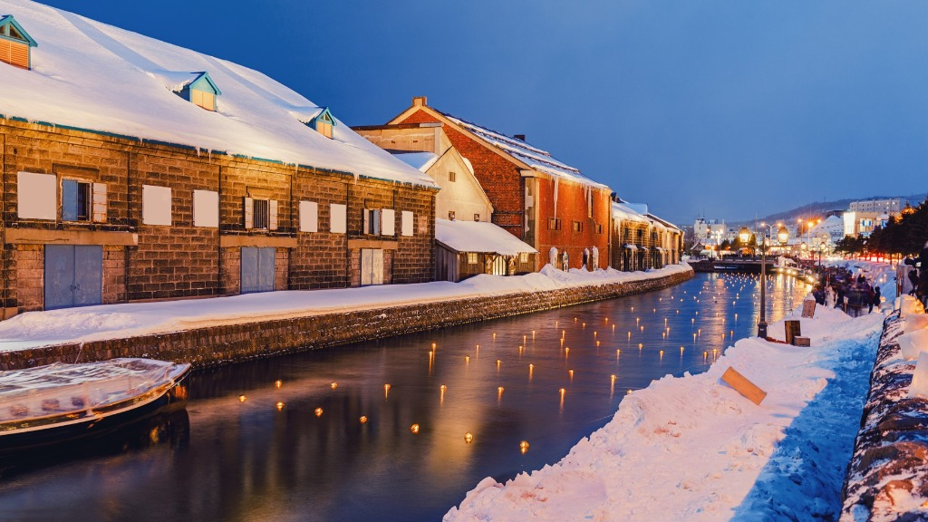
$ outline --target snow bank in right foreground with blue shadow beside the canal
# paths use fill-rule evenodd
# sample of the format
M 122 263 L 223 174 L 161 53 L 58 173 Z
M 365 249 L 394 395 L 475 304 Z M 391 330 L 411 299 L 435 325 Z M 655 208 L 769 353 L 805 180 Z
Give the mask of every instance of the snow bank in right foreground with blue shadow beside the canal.
M 866 269 L 892 302 L 887 266 Z M 445 521 L 836 519 L 883 318 L 817 307 L 812 347 L 741 339 L 708 372 L 625 398 L 560 463 L 485 478 Z M 720 381 L 728 367 L 767 391 L 760 406 Z

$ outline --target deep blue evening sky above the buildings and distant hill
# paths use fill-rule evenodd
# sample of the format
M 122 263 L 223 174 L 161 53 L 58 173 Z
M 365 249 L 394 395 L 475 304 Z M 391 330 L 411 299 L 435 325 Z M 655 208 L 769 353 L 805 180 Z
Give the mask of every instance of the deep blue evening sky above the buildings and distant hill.
M 928 190 L 928 2 L 50 0 L 383 124 L 525 134 L 684 225 Z

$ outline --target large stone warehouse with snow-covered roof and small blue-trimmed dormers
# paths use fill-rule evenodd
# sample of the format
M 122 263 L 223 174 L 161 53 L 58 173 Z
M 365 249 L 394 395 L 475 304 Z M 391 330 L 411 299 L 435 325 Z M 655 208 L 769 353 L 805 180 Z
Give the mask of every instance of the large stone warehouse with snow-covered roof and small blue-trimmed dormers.
M 0 63 L 4 317 L 431 281 L 436 184 L 328 109 L 225 60 L 0 1 L 14 19 L 31 56 Z

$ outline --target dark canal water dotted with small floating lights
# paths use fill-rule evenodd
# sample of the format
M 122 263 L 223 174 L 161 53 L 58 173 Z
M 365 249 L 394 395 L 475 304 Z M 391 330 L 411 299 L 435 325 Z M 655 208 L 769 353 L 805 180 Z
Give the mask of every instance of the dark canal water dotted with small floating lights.
M 782 275 L 767 285 L 771 321 L 808 292 Z M 756 276 L 697 274 L 200 372 L 186 411 L 0 463 L 0 520 L 439 520 L 485 476 L 559 461 L 629 390 L 704 371 L 754 333 L 758 294 Z

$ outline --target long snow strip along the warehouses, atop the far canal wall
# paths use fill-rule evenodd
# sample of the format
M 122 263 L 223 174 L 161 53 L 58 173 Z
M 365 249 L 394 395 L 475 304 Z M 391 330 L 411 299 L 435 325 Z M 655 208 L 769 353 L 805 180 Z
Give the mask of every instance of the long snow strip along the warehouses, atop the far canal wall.
M 675 265 L 648 272 L 620 272 L 612 268 L 595 272 L 578 269 L 562 272 L 548 266 L 540 273 L 524 276 L 480 275 L 457 283 L 435 281 L 333 290 L 291 290 L 27 312 L 0 322 L 0 351 L 356 309 L 636 281 L 688 270 L 690 267 L 687 265 Z

